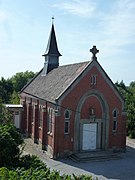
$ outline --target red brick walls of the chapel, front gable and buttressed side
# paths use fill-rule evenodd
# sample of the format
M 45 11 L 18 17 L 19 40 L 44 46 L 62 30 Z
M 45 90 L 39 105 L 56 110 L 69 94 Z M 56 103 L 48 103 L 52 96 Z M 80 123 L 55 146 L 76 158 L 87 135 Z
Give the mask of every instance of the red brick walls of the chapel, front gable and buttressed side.
M 125 149 L 124 101 L 97 61 L 89 63 L 55 103 L 24 92 L 21 102 L 22 129 L 53 158 L 93 150 L 83 142 L 84 124 L 96 125 L 94 150 Z

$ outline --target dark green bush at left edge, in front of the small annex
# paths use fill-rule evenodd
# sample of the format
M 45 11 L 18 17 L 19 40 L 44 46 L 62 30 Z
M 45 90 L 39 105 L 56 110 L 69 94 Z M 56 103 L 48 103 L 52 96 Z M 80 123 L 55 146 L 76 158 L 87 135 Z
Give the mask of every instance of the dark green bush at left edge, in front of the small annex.
M 12 115 L 0 102 L 0 167 L 15 164 L 20 156 L 23 138 L 12 122 Z

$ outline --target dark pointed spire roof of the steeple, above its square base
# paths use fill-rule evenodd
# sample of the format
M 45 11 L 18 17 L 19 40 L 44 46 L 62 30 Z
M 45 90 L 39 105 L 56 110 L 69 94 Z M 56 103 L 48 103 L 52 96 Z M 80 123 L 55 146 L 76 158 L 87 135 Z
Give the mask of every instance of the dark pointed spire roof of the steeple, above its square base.
M 56 40 L 55 30 L 54 30 L 54 25 L 53 24 L 52 24 L 52 28 L 51 28 L 51 32 L 50 32 L 50 36 L 49 36 L 49 40 L 48 40 L 48 44 L 47 44 L 47 48 L 46 48 L 46 51 L 45 51 L 43 56 L 46 56 L 46 55 L 61 56 L 61 54 L 60 54 L 60 52 L 58 50 L 57 40 Z

